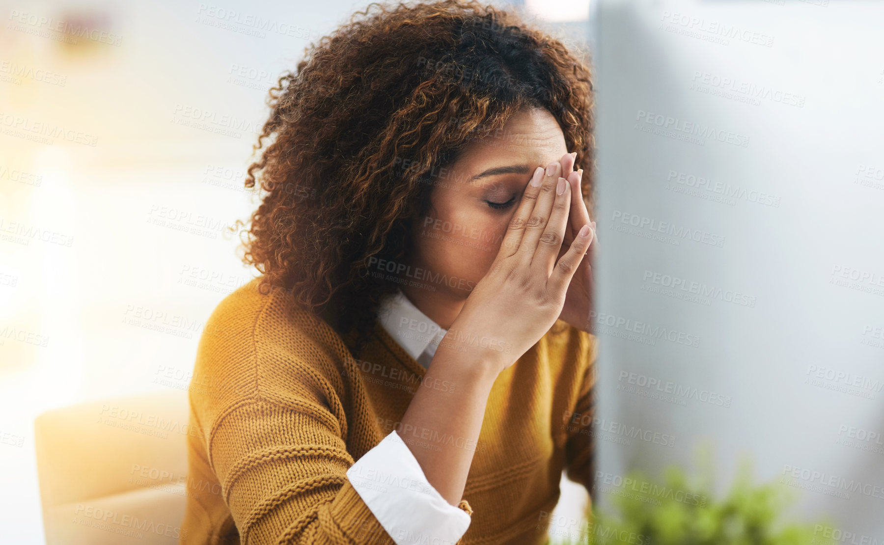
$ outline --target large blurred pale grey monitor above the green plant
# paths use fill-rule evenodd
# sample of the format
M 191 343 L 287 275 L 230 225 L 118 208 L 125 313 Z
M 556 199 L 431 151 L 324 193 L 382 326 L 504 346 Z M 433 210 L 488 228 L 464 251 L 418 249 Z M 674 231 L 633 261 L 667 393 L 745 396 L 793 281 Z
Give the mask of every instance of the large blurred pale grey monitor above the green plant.
M 884 4 L 594 20 L 600 470 L 696 469 L 711 440 L 721 490 L 748 456 L 796 519 L 881 540 Z

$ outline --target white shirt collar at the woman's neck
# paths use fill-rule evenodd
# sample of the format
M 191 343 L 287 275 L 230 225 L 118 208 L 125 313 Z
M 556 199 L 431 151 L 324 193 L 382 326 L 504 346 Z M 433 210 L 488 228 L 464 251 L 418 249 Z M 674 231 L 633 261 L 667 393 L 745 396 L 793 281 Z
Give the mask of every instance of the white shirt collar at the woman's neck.
M 442 329 L 438 323 L 433 322 L 426 314 L 423 314 L 412 303 L 405 293 L 399 288 L 396 293 L 386 295 L 381 299 L 381 307 L 377 313 L 377 320 L 396 340 L 400 346 L 408 352 L 408 355 L 418 360 L 423 365 L 423 352 L 432 359 L 436 353 L 442 337 L 448 332 Z M 427 367 L 424 365 L 424 367 Z

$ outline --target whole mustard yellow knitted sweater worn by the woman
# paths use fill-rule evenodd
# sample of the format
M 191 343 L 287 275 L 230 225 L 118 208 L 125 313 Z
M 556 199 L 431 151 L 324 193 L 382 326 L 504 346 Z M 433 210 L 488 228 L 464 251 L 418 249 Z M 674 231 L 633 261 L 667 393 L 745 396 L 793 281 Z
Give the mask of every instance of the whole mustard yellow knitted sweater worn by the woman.
M 187 437 L 181 543 L 394 545 L 346 475 L 394 428 L 418 447 L 475 450 L 459 545 L 544 543 L 562 470 L 590 489 L 595 337 L 556 322 L 498 376 L 469 444 L 399 425 L 417 388 L 456 384 L 422 383 L 425 369 L 379 323 L 354 359 L 292 300 L 255 279 L 203 329 L 189 391 L 202 433 Z

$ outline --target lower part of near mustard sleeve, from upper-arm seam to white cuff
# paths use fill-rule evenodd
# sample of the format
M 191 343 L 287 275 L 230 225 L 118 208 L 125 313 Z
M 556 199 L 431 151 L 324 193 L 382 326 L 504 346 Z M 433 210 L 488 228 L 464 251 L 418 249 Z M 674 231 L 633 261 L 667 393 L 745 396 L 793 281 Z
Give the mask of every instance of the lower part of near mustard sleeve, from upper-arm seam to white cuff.
M 209 448 L 243 545 L 394 545 L 347 480 L 354 460 L 324 407 L 245 400 L 218 421 Z

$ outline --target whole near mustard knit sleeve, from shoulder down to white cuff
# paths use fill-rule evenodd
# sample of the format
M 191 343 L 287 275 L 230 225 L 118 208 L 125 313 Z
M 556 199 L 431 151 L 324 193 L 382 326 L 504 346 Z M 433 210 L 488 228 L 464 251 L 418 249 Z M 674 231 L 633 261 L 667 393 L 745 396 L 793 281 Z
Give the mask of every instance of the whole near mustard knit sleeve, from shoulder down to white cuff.
M 194 376 L 207 386 L 191 391 L 191 406 L 208 427 L 207 470 L 238 542 L 395 545 L 347 478 L 352 390 L 334 363 L 346 347 L 287 301 L 240 288 L 211 315 L 197 352 Z

